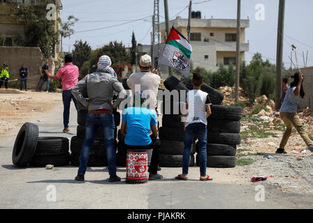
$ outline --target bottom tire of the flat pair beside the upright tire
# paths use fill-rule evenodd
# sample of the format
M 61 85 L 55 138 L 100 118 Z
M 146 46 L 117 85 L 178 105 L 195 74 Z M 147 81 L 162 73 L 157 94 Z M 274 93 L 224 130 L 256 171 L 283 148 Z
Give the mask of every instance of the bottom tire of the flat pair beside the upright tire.
M 29 164 L 31 167 L 45 167 L 53 164 L 54 167 L 62 167 L 70 164 L 70 153 L 63 155 L 34 155 Z

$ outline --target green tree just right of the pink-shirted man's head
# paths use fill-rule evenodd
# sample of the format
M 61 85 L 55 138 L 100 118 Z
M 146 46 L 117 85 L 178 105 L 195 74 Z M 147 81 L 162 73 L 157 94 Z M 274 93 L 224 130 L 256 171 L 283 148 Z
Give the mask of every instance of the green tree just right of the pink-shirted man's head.
M 72 51 L 72 54 L 73 62 L 76 66 L 78 66 L 79 70 L 81 70 L 81 68 L 83 67 L 83 63 L 85 63 L 85 61 L 88 61 L 90 52 L 91 47 L 87 43 L 87 41 L 83 43 L 82 40 L 76 40 L 76 42 L 74 43 L 74 49 Z

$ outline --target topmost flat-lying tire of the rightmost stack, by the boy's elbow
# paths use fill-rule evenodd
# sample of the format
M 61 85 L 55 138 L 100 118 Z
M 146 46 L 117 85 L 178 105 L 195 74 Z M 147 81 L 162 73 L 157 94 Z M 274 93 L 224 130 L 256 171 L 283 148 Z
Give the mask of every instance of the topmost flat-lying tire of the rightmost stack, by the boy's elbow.
M 228 119 L 239 121 L 242 117 L 242 107 L 227 105 L 211 105 L 209 119 Z

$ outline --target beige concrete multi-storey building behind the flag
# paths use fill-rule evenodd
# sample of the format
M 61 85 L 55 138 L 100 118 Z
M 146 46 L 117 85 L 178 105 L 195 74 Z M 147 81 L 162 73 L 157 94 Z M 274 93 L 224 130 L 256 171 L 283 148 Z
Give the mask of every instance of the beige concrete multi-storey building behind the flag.
M 174 26 L 177 31 L 187 38 L 188 19 L 176 17 L 169 21 L 169 26 Z M 246 28 L 249 27 L 249 20 L 241 20 L 240 35 L 240 56 L 245 59 L 245 52 L 249 50 L 249 43 L 246 43 Z M 165 23 L 160 24 L 161 28 L 161 49 L 166 41 Z M 191 61 L 193 68 L 202 67 L 207 70 L 216 71 L 220 63 L 228 66 L 236 64 L 236 20 L 223 19 L 201 19 L 191 18 L 191 46 L 193 52 Z M 162 69 L 163 70 L 163 69 Z M 166 72 L 166 69 L 164 70 Z

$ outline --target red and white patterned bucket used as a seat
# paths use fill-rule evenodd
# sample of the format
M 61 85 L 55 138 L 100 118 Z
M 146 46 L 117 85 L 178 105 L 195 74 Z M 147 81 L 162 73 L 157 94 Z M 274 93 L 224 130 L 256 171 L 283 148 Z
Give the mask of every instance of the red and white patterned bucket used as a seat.
M 126 183 L 147 183 L 146 150 L 127 150 Z

